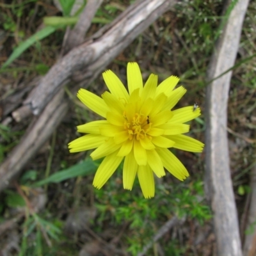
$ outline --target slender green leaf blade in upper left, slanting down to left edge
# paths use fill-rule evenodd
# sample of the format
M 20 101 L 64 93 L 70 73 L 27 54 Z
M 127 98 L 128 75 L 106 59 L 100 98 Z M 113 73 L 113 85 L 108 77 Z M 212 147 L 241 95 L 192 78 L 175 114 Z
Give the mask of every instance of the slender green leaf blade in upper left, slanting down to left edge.
M 35 44 L 35 42 L 38 42 L 42 40 L 43 38 L 51 35 L 54 31 L 56 31 L 56 28 L 52 26 L 47 26 L 40 31 L 36 32 L 34 35 L 30 36 L 26 41 L 22 42 L 11 54 L 11 56 L 6 60 L 1 67 L 0 70 L 3 70 L 6 68 L 10 63 L 12 63 L 13 60 L 19 58 L 20 54 L 22 54 L 28 47 Z

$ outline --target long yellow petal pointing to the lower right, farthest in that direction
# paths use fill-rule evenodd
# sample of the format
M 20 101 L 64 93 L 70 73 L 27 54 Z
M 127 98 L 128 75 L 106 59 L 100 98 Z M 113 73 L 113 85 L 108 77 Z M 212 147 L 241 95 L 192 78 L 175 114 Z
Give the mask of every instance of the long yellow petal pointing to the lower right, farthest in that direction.
M 189 176 L 186 167 L 166 148 L 157 148 L 157 153 L 161 157 L 164 168 L 172 173 L 179 180 L 184 180 Z

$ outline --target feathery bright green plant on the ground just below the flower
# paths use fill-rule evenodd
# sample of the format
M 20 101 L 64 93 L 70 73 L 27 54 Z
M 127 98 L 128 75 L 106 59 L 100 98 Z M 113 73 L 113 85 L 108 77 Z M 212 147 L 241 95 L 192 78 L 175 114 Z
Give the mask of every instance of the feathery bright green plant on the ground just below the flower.
M 138 180 L 135 180 L 132 191 L 122 188 L 122 167 L 118 168 L 116 176 L 115 180 L 108 181 L 105 185 L 107 188 L 95 189 L 96 206 L 100 214 L 97 229 L 100 232 L 102 221 L 109 218 L 113 225 L 129 223 L 129 235 L 125 237 L 129 245 L 127 251 L 132 255 L 137 255 L 152 240 L 159 227 L 172 216 L 197 220 L 201 225 L 212 217 L 209 206 L 205 204 L 201 180 L 173 186 L 159 184 L 156 186 L 156 196 L 148 200 L 137 189 Z M 172 241 L 168 250 L 175 250 L 175 246 Z M 179 250 L 176 252 L 178 254 L 170 255 L 182 255 L 183 249 Z

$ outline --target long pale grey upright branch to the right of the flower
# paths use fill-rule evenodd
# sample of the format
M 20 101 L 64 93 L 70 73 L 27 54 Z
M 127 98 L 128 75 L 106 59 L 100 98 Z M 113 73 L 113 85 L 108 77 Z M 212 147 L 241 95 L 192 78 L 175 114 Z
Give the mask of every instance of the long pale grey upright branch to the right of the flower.
M 228 1 L 230 4 L 232 1 Z M 238 0 L 220 36 L 209 64 L 207 81 L 234 65 L 248 0 Z M 232 72 L 207 86 L 205 190 L 214 212 L 220 256 L 241 256 L 236 204 L 230 177 L 227 142 L 227 100 Z

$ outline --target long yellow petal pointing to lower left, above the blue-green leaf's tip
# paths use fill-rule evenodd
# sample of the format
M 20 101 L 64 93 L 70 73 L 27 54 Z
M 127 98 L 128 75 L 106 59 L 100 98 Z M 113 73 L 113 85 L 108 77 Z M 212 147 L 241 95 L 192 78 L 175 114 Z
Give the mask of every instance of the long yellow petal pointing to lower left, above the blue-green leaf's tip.
M 97 189 L 102 188 L 102 186 L 115 172 L 116 168 L 118 168 L 123 158 L 124 157 L 116 156 L 116 152 L 109 156 L 106 156 L 95 174 L 95 177 L 93 179 L 93 186 Z

